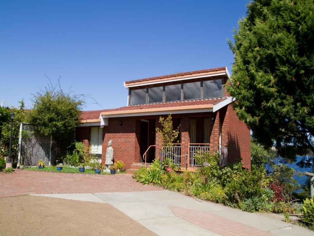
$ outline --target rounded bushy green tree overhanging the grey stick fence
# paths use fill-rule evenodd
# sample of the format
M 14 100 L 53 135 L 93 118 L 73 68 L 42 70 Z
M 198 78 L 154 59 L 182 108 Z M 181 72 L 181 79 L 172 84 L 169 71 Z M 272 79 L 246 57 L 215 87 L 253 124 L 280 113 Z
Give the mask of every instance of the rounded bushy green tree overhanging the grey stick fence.
M 80 123 L 84 95 L 63 92 L 60 78 L 57 85 L 46 87 L 46 91 L 34 96 L 34 107 L 28 115 L 28 122 L 41 134 L 68 137 Z

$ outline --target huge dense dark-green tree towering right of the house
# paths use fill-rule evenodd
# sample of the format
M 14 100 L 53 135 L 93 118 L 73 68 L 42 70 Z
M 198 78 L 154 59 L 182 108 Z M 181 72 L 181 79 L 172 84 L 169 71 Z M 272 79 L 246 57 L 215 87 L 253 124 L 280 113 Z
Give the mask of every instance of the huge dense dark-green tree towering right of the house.
M 313 0 L 253 0 L 229 41 L 236 114 L 290 161 L 314 151 L 313 13 Z

